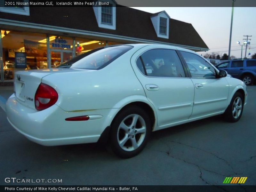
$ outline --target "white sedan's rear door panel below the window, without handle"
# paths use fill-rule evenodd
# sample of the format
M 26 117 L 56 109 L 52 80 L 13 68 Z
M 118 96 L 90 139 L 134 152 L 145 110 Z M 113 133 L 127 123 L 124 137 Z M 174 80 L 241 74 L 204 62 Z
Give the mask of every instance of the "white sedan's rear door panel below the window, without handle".
M 188 119 L 192 113 L 194 85 L 189 78 L 142 77 L 148 100 L 155 106 L 157 125 L 162 126 Z M 149 91 L 146 85 L 156 84 L 157 91 Z

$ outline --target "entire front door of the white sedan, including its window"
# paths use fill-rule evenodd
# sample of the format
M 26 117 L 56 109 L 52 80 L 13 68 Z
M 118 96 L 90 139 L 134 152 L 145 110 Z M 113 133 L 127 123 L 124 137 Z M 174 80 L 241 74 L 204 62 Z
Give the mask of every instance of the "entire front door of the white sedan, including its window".
M 195 85 L 194 107 L 189 118 L 200 117 L 225 110 L 228 101 L 228 82 L 216 78 L 212 65 L 197 54 L 180 52 L 188 67 Z M 229 78 L 229 77 L 226 77 Z

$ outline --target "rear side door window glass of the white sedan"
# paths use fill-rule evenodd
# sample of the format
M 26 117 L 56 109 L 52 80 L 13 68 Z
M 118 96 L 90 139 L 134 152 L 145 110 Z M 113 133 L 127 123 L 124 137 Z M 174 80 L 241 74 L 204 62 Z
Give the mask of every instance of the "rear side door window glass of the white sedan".
M 147 76 L 185 77 L 184 69 L 180 62 L 180 58 L 175 50 L 170 50 L 170 49 L 149 50 L 143 53 L 137 59 L 136 64 L 140 69 L 140 71 Z

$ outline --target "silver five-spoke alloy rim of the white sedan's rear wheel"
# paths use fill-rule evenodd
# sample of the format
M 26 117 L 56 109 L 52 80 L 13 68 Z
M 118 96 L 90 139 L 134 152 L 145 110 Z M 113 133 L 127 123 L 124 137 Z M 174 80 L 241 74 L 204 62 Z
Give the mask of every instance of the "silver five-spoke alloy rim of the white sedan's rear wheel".
M 146 122 L 138 114 L 126 116 L 117 131 L 119 146 L 125 151 L 136 150 L 146 136 Z

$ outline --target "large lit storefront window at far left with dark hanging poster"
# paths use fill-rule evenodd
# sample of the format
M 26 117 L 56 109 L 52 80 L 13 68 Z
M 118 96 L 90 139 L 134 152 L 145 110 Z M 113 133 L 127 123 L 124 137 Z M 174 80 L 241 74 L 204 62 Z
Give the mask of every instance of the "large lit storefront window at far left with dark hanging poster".
M 46 34 L 1 30 L 4 80 L 16 71 L 47 68 Z

